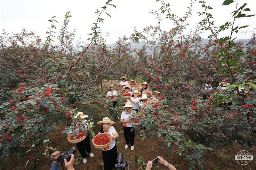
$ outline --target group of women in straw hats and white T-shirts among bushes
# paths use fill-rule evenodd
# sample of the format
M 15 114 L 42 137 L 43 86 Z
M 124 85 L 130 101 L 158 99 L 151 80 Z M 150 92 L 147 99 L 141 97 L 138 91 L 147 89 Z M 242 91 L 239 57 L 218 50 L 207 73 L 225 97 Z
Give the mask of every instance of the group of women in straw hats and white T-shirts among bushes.
M 121 90 L 125 91 L 126 93 L 131 93 L 132 97 L 125 99 L 124 108 L 125 110 L 121 114 L 120 123 L 123 123 L 123 130 L 124 130 L 124 139 L 125 139 L 125 146 L 124 148 L 127 149 L 129 145 L 131 145 L 131 151 L 134 150 L 134 138 L 135 133 L 133 130 L 133 125 L 130 120 L 130 115 L 132 115 L 133 111 L 143 111 L 145 110 L 145 107 L 147 106 L 147 100 L 149 99 L 147 95 L 145 94 L 146 90 L 148 89 L 148 83 L 143 82 L 142 86 L 143 89 L 139 92 L 138 90 L 135 90 L 134 87 L 129 86 L 129 83 L 126 81 L 126 77 L 121 78 L 122 81 L 119 84 L 119 87 L 121 87 Z M 130 83 L 135 83 L 134 80 L 131 80 Z M 160 92 L 153 92 L 155 95 L 153 98 L 158 100 L 158 96 Z M 107 97 L 109 96 L 117 96 L 116 90 L 114 90 L 114 85 L 109 86 L 109 91 L 107 92 Z M 117 106 L 117 101 L 113 101 L 113 107 Z M 84 115 L 82 112 L 78 112 L 76 116 L 78 117 L 80 115 L 81 119 L 83 120 L 81 123 L 84 125 L 85 128 L 87 128 L 87 121 L 85 120 L 87 115 Z M 111 143 L 108 147 L 102 149 L 102 159 L 104 163 L 104 169 L 105 170 L 111 170 L 112 168 L 115 168 L 116 164 L 116 157 L 117 157 L 117 149 L 116 149 L 116 141 L 115 139 L 119 137 L 118 133 L 116 132 L 116 129 L 112 126 L 115 122 L 110 120 L 108 117 L 103 118 L 102 121 L 97 122 L 97 124 L 101 125 L 100 133 L 106 133 L 110 134 L 112 137 Z M 89 136 L 86 137 L 83 141 L 76 144 L 77 149 L 79 150 L 81 156 L 84 158 L 83 162 L 86 163 L 86 155 L 88 154 L 90 157 L 93 157 L 94 155 L 91 152 L 91 145 Z M 87 152 L 87 153 L 86 153 Z

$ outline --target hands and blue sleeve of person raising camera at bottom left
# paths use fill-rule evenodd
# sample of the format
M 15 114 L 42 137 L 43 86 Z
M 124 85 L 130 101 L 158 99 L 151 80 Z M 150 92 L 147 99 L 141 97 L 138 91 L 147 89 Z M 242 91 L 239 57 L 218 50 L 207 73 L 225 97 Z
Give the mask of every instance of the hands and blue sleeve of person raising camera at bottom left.
M 57 159 L 59 157 L 59 155 L 60 155 L 60 151 L 55 151 L 55 152 L 52 153 L 50 158 Z M 75 170 L 75 168 L 74 168 L 74 163 L 75 163 L 74 154 L 71 153 L 70 156 L 71 156 L 71 159 L 68 162 L 67 162 L 66 159 L 64 159 L 65 167 L 68 170 Z M 57 162 L 57 160 L 52 161 L 50 170 L 59 170 L 59 169 L 60 169 L 60 163 Z

